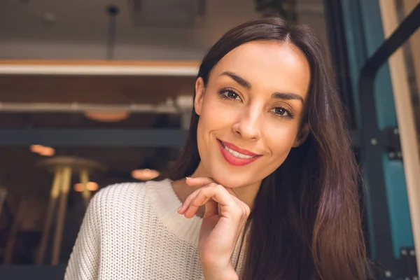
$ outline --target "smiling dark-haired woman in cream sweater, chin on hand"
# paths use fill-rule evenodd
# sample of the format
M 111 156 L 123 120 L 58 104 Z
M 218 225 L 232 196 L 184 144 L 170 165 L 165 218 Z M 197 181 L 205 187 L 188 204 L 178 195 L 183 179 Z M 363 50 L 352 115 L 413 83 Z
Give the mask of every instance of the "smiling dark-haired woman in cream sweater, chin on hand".
M 228 31 L 200 66 L 178 162 L 95 195 L 66 279 L 366 279 L 342 111 L 308 27 Z

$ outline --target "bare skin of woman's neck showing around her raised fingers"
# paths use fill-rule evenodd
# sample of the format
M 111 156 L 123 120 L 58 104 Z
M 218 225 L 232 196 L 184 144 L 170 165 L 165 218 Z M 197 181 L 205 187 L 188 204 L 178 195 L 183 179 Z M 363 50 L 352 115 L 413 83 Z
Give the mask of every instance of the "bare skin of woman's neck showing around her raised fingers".
M 209 177 L 209 178 L 212 178 L 211 174 L 209 174 L 209 172 L 207 172 L 207 170 L 204 168 L 204 166 L 202 165 L 201 162 L 200 162 L 200 165 L 198 165 L 195 172 L 191 175 L 191 177 L 193 177 L 193 178 L 195 178 L 195 177 Z M 218 183 L 218 182 L 216 182 L 216 183 Z M 253 204 L 254 204 L 254 201 L 255 201 L 255 197 L 257 196 L 257 193 L 258 193 L 258 190 L 260 189 L 260 186 L 261 186 L 261 181 L 258 181 L 258 182 L 255 182 L 255 183 L 251 183 L 250 185 L 247 185 L 247 186 L 240 186 L 240 187 L 231 188 L 231 189 L 237 195 L 239 200 L 248 204 L 248 206 L 251 209 L 253 209 Z M 188 195 L 190 195 L 191 193 L 193 193 L 197 189 L 198 189 L 197 187 L 192 187 L 192 186 L 187 185 L 185 179 L 181 179 L 179 181 L 176 181 L 176 184 L 174 186 L 175 192 L 177 193 L 177 195 L 179 196 L 179 198 L 182 201 L 186 200 Z

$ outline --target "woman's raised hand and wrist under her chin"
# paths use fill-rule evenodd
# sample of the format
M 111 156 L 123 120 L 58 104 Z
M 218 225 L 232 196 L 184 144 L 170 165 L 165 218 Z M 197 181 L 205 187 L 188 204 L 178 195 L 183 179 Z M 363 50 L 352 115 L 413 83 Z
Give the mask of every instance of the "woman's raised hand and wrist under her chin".
M 179 214 L 192 218 L 199 207 L 206 207 L 198 241 L 203 274 L 209 272 L 212 279 L 227 279 L 225 276 L 235 272 L 232 253 L 251 209 L 239 200 L 232 189 L 218 185 L 209 178 L 187 179 L 186 182 L 202 188 L 187 197 Z M 221 274 L 224 276 L 216 276 Z

